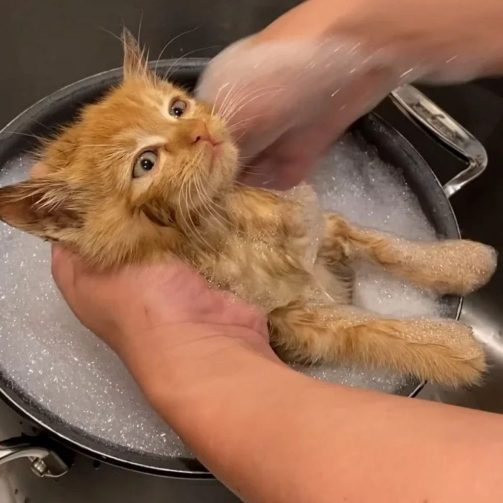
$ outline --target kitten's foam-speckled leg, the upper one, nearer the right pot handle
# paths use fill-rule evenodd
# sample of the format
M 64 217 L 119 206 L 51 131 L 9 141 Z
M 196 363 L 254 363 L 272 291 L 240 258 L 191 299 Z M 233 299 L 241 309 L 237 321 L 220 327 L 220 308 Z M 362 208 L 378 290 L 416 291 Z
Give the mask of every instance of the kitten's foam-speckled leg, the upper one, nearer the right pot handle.
M 483 286 L 496 268 L 496 252 L 466 239 L 409 241 L 362 229 L 336 214 L 326 215 L 318 256 L 325 262 L 366 259 L 423 288 L 467 295 Z

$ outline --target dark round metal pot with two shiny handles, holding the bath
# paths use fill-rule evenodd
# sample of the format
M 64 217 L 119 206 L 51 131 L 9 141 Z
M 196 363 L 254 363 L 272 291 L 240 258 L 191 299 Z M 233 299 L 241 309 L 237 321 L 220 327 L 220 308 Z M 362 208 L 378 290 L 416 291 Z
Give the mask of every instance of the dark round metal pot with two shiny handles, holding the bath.
M 172 79 L 191 88 L 206 63 L 206 59 L 166 60 L 159 62 L 158 71 L 162 73 L 173 66 Z M 0 165 L 21 151 L 29 151 L 35 143 L 31 135 L 43 135 L 47 127 L 70 120 L 82 104 L 95 100 L 121 75 L 122 70 L 116 69 L 91 76 L 27 109 L 0 132 Z M 369 114 L 357 121 L 352 131 L 373 144 L 384 161 L 402 171 L 437 233 L 447 238 L 459 238 L 458 224 L 448 198 L 482 173 L 487 163 L 485 150 L 472 135 L 414 88 L 402 87 L 392 94 L 392 99 L 414 122 L 465 160 L 468 164 L 466 169 L 442 187 L 421 155 L 377 115 Z M 451 296 L 443 302 L 448 315 L 459 318 L 462 299 Z M 414 396 L 423 385 L 408 381 L 397 390 L 397 394 Z M 50 410 L 28 396 L 1 368 L 0 395 L 35 426 L 36 433 L 34 436 L 0 443 L 0 464 L 27 457 L 38 475 L 58 477 L 68 470 L 72 451 L 78 451 L 100 461 L 140 472 L 182 478 L 211 477 L 196 460 L 121 451 L 100 443 L 86 435 L 86 432 L 66 426 Z

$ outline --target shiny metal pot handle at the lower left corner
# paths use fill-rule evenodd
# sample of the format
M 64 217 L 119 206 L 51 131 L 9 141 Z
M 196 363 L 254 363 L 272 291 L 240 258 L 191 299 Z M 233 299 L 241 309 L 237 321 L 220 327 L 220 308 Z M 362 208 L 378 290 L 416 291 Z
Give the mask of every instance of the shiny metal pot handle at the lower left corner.
M 23 435 L 0 442 L 0 465 L 20 458 L 28 458 L 33 473 L 39 477 L 57 478 L 70 469 L 59 454 L 35 437 Z

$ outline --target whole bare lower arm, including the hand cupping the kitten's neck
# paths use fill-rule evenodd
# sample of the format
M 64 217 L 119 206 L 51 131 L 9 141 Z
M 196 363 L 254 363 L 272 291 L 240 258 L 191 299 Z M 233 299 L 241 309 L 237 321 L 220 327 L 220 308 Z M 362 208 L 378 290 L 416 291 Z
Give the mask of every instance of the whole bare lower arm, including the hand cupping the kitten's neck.
M 53 272 L 77 317 L 245 501 L 501 500 L 500 416 L 304 377 L 272 352 L 263 315 L 180 266 L 105 274 L 59 248 Z

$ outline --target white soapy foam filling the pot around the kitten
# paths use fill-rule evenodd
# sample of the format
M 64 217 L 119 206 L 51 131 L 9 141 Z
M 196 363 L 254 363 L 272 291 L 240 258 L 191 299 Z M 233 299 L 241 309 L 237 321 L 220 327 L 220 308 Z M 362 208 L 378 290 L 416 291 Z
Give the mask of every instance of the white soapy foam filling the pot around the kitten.
M 27 156 L 0 170 L 0 185 L 26 178 Z M 310 180 L 325 209 L 354 223 L 415 239 L 435 232 L 398 170 L 345 137 Z M 50 274 L 50 246 L 0 223 L 0 365 L 35 402 L 72 428 L 136 453 L 187 457 L 119 358 L 73 316 Z M 356 267 L 354 303 L 395 317 L 442 315 L 431 294 L 368 264 Z M 295 369 L 315 378 L 397 392 L 406 380 L 338 366 Z

